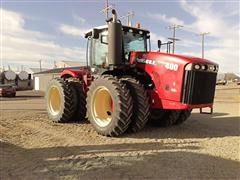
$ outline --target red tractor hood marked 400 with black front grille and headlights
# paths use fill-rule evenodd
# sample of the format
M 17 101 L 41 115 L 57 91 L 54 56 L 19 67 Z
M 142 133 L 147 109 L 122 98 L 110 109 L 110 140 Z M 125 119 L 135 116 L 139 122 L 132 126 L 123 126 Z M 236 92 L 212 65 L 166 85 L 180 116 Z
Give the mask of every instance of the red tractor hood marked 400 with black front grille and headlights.
M 216 63 L 161 52 L 132 52 L 130 63 L 150 76 L 155 87 L 153 91 L 160 98 L 160 103 L 155 101 L 153 107 L 181 109 L 182 104 L 202 104 L 203 107 L 211 105 L 218 71 Z M 198 97 L 202 98 L 199 100 Z

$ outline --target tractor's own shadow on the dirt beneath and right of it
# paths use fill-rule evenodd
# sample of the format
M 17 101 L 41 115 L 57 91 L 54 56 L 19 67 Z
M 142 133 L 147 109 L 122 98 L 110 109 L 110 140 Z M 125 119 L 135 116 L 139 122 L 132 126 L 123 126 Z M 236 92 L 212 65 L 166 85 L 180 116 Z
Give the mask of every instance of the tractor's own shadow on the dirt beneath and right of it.
M 141 132 L 126 134 L 131 138 L 217 138 L 240 135 L 240 117 L 226 116 L 227 113 L 205 115 L 193 113 L 183 124 L 168 128 L 153 126 L 149 123 Z

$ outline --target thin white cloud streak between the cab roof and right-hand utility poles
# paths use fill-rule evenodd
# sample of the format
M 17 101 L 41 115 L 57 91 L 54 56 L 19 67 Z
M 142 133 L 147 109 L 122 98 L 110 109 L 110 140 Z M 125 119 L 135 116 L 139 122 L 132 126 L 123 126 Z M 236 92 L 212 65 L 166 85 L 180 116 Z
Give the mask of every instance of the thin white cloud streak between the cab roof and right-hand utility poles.
M 179 24 L 179 25 L 184 25 L 184 21 L 176 18 L 176 17 L 167 17 L 166 14 L 152 14 L 152 13 L 148 13 L 148 16 L 150 18 L 156 19 L 156 20 L 160 20 L 163 21 L 165 23 L 168 24 Z

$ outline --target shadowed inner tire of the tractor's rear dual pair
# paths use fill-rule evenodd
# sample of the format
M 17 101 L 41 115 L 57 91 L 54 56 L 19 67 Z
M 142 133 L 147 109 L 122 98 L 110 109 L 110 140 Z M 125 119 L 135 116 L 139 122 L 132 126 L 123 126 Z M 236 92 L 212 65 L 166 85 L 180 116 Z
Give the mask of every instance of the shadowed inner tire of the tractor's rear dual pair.
M 70 86 L 74 92 L 74 98 L 77 99 L 77 107 L 72 117 L 73 121 L 83 121 L 86 119 L 86 93 L 83 91 L 81 82 L 70 81 Z

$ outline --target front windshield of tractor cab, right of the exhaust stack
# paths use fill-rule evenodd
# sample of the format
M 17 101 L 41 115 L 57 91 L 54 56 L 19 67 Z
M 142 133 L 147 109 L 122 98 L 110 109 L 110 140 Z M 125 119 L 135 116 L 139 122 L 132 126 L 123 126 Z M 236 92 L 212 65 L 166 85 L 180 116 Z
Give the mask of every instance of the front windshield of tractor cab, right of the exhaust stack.
M 125 32 L 123 35 L 124 51 L 147 51 L 146 38 L 141 34 Z

